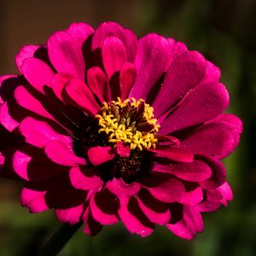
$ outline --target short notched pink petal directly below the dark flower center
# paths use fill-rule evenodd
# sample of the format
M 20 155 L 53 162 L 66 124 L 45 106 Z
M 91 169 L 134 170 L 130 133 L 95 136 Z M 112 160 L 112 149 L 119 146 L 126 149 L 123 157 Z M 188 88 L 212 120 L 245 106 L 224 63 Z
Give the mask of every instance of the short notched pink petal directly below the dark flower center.
M 113 195 L 117 195 L 119 198 L 137 195 L 138 191 L 141 189 L 140 183 L 133 182 L 131 184 L 127 184 L 122 178 L 117 179 L 115 177 L 113 180 L 108 181 L 106 186 Z

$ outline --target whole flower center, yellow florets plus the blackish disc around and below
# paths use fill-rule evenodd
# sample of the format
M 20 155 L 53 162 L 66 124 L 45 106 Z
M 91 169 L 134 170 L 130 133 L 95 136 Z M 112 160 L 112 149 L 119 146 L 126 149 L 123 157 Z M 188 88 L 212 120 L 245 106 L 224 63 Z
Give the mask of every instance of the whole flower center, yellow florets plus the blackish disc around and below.
M 119 142 L 129 145 L 129 156 L 116 154 L 113 160 L 96 168 L 105 182 L 122 177 L 125 183 L 131 183 L 151 169 L 151 153 L 144 149 L 155 147 L 154 134 L 159 127 L 153 108 L 143 100 L 104 102 L 95 119 L 84 116 L 80 122 L 73 139 L 74 152 L 90 162 L 87 157 L 89 148 L 116 148 Z

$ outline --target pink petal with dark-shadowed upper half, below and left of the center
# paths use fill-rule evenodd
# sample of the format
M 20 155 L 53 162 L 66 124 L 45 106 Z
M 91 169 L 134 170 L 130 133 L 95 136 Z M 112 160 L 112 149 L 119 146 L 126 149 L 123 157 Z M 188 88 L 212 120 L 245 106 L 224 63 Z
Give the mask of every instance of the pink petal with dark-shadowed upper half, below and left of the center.
M 90 211 L 93 218 L 102 225 L 116 224 L 117 218 L 116 197 L 108 189 L 96 193 L 90 198 Z

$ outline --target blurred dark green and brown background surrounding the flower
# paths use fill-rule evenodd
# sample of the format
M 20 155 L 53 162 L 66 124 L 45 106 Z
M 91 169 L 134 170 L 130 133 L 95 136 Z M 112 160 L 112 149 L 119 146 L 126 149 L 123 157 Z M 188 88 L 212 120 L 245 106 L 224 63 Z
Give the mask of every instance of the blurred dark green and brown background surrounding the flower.
M 204 215 L 205 231 L 183 241 L 164 227 L 131 236 L 122 225 L 95 238 L 82 230 L 59 254 L 66 255 L 256 255 L 256 1 L 255 0 L 1 0 L 0 74 L 17 73 L 23 44 L 41 44 L 73 21 L 98 26 L 114 20 L 138 38 L 148 32 L 183 41 L 222 70 L 230 108 L 244 122 L 239 148 L 225 160 L 234 191 L 230 207 Z M 20 184 L 0 180 L 0 255 L 34 255 L 60 227 L 53 212 L 31 215 L 20 207 Z

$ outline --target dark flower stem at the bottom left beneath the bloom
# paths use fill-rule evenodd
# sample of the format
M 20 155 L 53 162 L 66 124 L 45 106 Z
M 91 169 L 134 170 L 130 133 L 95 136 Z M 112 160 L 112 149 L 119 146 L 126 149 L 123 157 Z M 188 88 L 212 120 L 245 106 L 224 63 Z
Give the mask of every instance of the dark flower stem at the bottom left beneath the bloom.
M 82 223 L 74 225 L 63 224 L 39 250 L 37 256 L 55 256 L 60 253 L 61 249 L 67 244 L 67 241 L 69 241 L 73 234 L 79 230 L 81 225 Z

